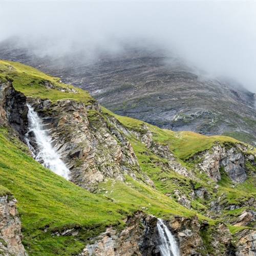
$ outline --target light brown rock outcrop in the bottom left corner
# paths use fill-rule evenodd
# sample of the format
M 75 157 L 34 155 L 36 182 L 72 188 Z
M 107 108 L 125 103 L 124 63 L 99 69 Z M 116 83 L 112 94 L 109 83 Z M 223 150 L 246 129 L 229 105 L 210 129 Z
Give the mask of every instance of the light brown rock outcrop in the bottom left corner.
M 21 223 L 16 200 L 0 197 L 0 253 L 4 255 L 28 255 L 22 244 Z

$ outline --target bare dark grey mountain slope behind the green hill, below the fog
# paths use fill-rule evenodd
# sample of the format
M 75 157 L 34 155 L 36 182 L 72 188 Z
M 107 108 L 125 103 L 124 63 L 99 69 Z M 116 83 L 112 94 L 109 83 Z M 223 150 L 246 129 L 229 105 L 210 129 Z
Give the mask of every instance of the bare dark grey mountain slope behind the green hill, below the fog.
M 125 45 L 121 52 L 99 51 L 89 60 L 83 51 L 39 57 L 11 40 L 0 49 L 1 58 L 61 76 L 116 114 L 256 145 L 255 94 L 236 81 L 210 77 L 158 47 Z

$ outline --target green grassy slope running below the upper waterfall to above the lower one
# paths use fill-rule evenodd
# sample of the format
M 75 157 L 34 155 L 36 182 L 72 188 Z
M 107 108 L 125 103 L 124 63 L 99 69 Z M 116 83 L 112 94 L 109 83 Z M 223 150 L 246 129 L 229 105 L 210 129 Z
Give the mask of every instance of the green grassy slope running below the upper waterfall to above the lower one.
M 123 225 L 122 219 L 141 207 L 163 218 L 174 215 L 189 218 L 197 214 L 129 177 L 126 183 L 113 180 L 101 183 L 100 194 L 107 197 L 89 193 L 34 161 L 8 139 L 8 130 L 3 127 L 0 150 L 0 188 L 4 195 L 12 191 L 18 200 L 23 243 L 30 255 L 76 254 L 89 238 L 106 226 Z M 48 231 L 44 232 L 46 227 Z M 51 236 L 52 232 L 70 228 L 80 230 L 78 236 Z

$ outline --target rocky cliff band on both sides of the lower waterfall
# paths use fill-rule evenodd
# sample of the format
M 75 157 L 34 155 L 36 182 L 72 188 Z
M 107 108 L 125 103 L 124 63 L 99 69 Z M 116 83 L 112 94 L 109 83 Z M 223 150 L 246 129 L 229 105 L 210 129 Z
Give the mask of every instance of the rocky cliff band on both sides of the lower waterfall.
M 115 255 L 155 255 L 160 256 L 160 238 L 157 230 L 157 218 L 138 212 L 125 220 L 127 227 L 117 232 L 108 227 L 105 232 L 94 238 L 79 256 L 115 256 Z M 192 219 L 175 217 L 166 226 L 176 237 L 180 255 L 255 255 L 253 254 L 255 232 L 243 230 L 235 234 L 239 240 L 234 247 L 232 235 L 224 224 L 210 229 L 207 221 L 200 223 L 197 217 Z M 214 239 L 212 239 L 214 238 Z M 210 253 L 206 253 L 209 251 Z

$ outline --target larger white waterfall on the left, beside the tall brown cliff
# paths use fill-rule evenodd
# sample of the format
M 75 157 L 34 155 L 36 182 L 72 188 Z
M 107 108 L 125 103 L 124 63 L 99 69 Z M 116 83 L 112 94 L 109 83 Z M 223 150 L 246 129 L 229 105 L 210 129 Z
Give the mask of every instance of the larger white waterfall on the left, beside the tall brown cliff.
M 51 139 L 44 130 L 42 122 L 38 117 L 37 113 L 29 105 L 28 111 L 28 121 L 29 121 L 29 131 L 25 136 L 28 147 L 32 151 L 32 155 L 36 161 L 44 165 L 46 168 L 52 170 L 52 172 L 62 176 L 63 178 L 69 178 L 69 169 L 63 163 L 58 154 L 55 152 L 51 145 Z M 29 134 L 33 132 L 36 148 L 33 146 L 33 142 L 29 139 Z

